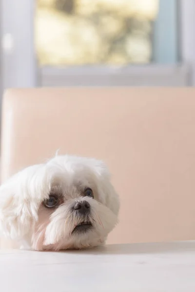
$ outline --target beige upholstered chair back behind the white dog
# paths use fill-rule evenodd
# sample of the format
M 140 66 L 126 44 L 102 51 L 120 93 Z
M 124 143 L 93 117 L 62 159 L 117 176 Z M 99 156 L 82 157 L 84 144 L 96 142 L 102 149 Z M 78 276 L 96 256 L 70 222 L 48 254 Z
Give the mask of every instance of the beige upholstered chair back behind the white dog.
M 195 89 L 6 91 L 1 182 L 58 149 L 108 164 L 121 201 L 108 243 L 195 239 Z

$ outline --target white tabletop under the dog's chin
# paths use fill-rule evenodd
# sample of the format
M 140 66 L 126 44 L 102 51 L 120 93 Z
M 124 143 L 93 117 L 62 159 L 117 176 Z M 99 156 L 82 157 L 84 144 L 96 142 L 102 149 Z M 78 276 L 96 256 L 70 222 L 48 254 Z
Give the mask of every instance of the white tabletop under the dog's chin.
M 0 251 L 1 292 L 195 292 L 195 242 Z

